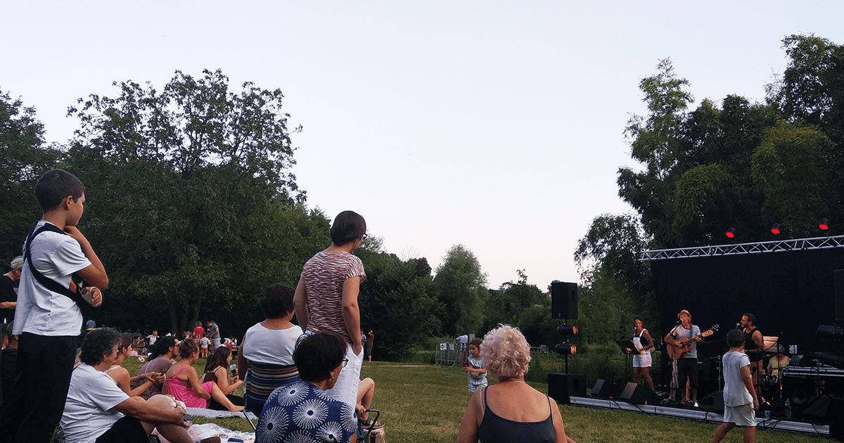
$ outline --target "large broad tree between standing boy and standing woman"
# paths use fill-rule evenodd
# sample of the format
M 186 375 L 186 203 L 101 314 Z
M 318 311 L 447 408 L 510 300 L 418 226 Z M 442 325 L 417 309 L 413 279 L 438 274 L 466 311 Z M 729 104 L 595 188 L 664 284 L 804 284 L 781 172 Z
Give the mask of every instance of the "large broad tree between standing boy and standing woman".
M 115 85 L 118 97 L 68 110 L 81 127 L 66 160 L 87 187 L 84 229 L 109 270 L 111 309 L 150 304 L 176 331 L 201 314 L 249 321 L 235 306 L 257 307 L 269 284 L 295 286 L 327 244 L 327 219 L 301 205 L 289 172 L 281 91 L 232 92 L 219 70 L 177 71 L 161 93 Z

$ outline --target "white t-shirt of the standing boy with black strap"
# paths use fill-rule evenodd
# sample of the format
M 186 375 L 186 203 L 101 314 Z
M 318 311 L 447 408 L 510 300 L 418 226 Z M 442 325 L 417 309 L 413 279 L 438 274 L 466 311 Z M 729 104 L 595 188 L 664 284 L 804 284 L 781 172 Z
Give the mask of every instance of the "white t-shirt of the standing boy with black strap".
M 48 222 L 40 220 L 35 229 L 46 223 Z M 24 257 L 25 253 L 26 251 Z M 91 265 L 77 240 L 70 235 L 50 230 L 42 232 L 32 240 L 31 253 L 35 268 L 46 278 L 55 280 L 65 288 L 71 287 L 71 274 Z M 81 331 L 82 312 L 76 303 L 66 295 L 56 294 L 41 286 L 30 272 L 29 261 L 24 260 L 12 333 L 78 336 Z

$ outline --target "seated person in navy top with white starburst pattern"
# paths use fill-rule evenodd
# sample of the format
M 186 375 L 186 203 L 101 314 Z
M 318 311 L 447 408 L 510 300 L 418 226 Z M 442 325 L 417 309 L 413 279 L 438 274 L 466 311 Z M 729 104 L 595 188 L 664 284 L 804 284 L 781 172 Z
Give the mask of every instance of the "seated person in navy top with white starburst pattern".
M 352 408 L 328 397 L 346 363 L 346 341 L 333 332 L 303 338 L 293 353 L 300 381 L 270 394 L 255 431 L 256 443 L 352 441 L 357 423 Z

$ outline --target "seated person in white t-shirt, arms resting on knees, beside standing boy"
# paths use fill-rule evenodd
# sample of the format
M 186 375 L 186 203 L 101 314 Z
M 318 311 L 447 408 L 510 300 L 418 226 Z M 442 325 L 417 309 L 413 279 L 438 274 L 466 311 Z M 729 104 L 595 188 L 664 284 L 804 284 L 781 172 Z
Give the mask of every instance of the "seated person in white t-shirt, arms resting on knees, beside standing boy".
M 129 397 L 106 374 L 117 357 L 120 335 L 109 327 L 89 332 L 82 363 L 73 370 L 62 431 L 68 443 L 146 443 L 153 429 L 173 443 L 192 443 L 185 408 L 170 397 Z

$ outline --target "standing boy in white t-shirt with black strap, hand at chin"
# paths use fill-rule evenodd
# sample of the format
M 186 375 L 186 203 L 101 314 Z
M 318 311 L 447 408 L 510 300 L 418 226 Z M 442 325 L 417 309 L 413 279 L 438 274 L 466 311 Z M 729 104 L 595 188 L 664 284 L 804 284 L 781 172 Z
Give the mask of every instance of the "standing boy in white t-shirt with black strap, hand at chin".
M 44 216 L 24 243 L 13 332 L 19 336 L 18 377 L 0 408 L 0 435 L 48 443 L 68 397 L 82 330 L 78 304 L 99 306 L 108 276 L 76 229 L 85 203 L 82 182 L 50 170 L 35 184 L 35 197 Z

